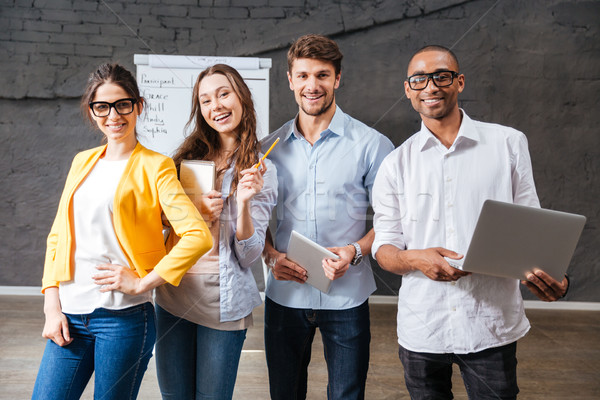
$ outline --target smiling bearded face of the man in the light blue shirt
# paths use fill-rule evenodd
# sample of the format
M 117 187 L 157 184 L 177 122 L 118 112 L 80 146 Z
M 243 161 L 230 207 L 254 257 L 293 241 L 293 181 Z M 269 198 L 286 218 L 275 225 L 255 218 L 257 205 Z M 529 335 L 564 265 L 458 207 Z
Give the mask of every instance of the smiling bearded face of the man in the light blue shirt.
M 335 89 L 340 86 L 341 74 L 335 73 L 333 63 L 314 58 L 297 58 L 288 72 L 290 89 L 296 103 L 307 115 L 316 117 L 335 104 Z

